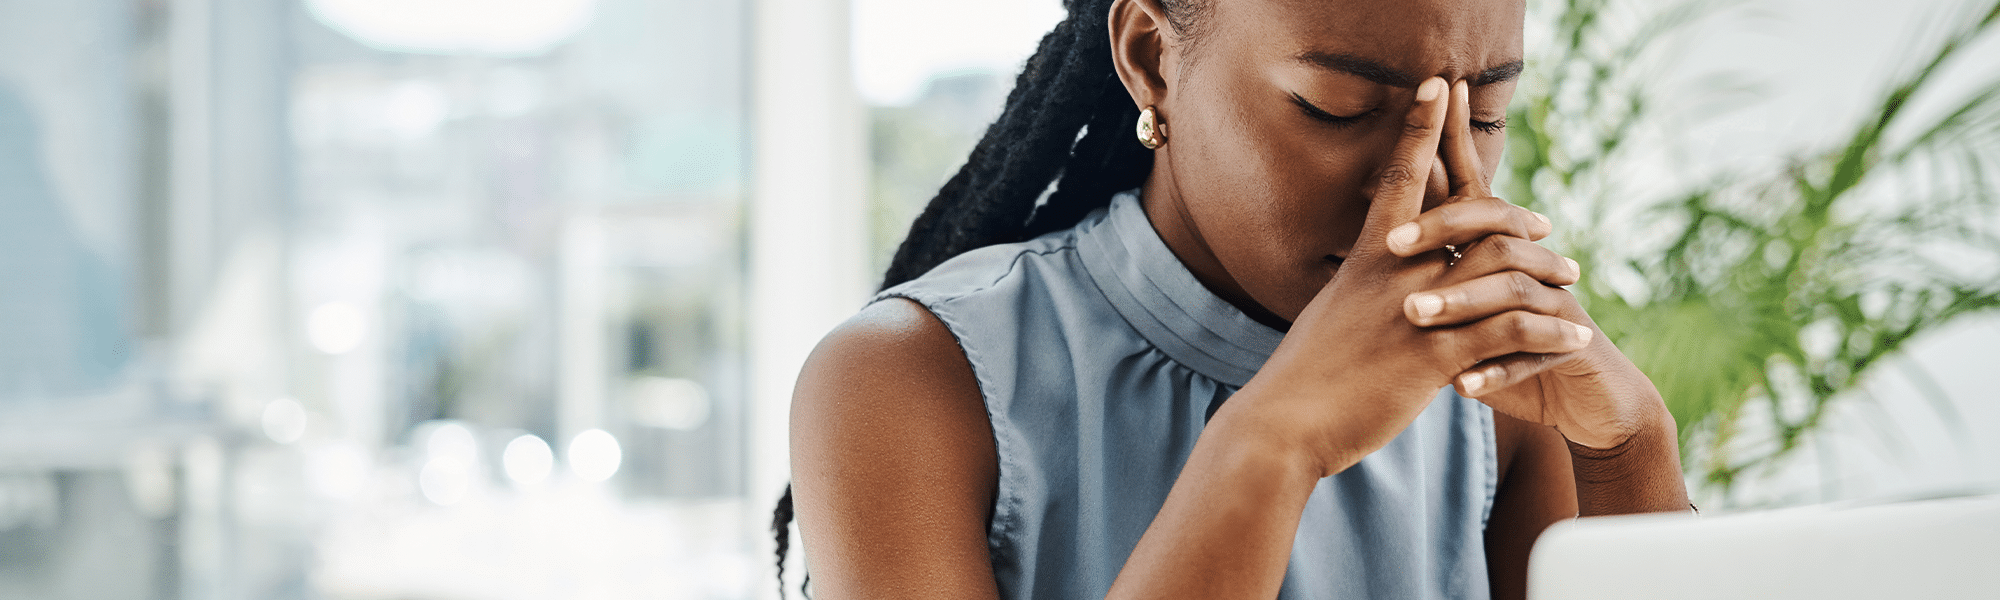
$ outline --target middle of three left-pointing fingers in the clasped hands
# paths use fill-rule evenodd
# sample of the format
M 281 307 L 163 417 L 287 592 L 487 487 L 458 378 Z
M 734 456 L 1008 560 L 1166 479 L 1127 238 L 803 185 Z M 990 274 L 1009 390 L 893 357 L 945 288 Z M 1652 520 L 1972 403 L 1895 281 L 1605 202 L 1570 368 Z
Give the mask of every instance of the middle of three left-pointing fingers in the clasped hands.
M 1526 272 L 1506 270 L 1404 296 L 1402 314 L 1414 326 L 1434 328 L 1468 324 L 1508 310 L 1558 316 L 1574 304 L 1576 298 L 1568 290 L 1544 286 Z

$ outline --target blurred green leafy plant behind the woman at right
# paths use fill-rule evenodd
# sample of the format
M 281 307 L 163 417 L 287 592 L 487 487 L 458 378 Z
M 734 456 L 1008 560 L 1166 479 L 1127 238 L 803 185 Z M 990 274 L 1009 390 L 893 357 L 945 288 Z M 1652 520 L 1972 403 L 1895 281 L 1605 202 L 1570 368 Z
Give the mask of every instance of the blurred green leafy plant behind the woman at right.
M 1844 144 L 1652 200 L 1622 184 L 1656 158 L 1634 148 L 1654 116 L 1648 72 L 1672 32 L 1728 4 L 1634 4 L 1536 6 L 1554 12 L 1552 40 L 1508 116 L 1506 194 L 1558 218 L 1554 244 L 1592 274 L 1574 292 L 1658 384 L 1690 470 L 1726 498 L 1912 338 L 2000 308 L 2000 80 L 1936 116 L 1910 110 L 1938 104 L 1938 74 L 1994 30 L 2000 2 L 1934 42 Z M 1754 402 L 1768 410 L 1746 412 Z M 1740 440 L 1750 414 L 1768 414 L 1770 442 Z

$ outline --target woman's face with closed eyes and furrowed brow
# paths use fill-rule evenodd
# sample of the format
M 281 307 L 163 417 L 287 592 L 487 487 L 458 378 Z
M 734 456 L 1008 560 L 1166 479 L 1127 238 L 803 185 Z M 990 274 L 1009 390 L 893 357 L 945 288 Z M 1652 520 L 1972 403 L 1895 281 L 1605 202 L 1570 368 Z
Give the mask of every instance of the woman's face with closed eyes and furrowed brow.
M 1210 0 L 1196 44 L 1160 56 L 1154 228 L 1252 318 L 1292 322 L 1354 248 L 1422 80 L 1470 86 L 1492 178 L 1522 18 L 1520 0 Z M 1426 208 L 1446 200 L 1436 164 Z

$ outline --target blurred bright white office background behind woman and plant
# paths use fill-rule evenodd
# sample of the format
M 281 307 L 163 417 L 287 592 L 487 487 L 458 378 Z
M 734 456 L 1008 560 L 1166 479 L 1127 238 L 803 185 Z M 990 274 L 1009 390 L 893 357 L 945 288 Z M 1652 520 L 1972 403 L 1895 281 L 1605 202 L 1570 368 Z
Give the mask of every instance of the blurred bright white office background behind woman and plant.
M 1812 142 L 1954 6 L 1836 4 L 1706 26 L 1768 94 L 1662 156 Z M 792 374 L 1060 18 L 0 0 L 0 596 L 776 596 Z M 1738 502 L 2000 482 L 1994 338 Z

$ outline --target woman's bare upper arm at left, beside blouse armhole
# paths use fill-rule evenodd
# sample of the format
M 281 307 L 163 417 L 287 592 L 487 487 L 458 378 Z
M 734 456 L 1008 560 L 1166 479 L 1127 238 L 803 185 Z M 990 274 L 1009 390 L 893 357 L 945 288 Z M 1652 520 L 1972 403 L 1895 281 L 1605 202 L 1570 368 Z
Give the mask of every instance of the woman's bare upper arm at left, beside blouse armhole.
M 950 330 L 916 302 L 862 310 L 792 398 L 792 494 L 818 598 L 998 598 L 992 422 Z

